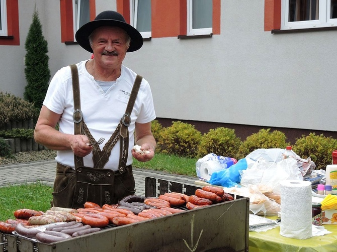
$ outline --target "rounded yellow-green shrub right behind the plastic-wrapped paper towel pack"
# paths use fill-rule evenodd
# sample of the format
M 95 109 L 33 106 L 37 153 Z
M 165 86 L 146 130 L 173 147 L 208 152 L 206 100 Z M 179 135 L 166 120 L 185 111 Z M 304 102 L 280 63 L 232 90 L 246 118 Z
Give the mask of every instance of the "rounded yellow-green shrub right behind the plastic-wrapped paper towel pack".
M 237 159 L 241 144 L 241 140 L 235 135 L 235 130 L 223 127 L 212 129 L 202 136 L 198 156 L 201 158 L 209 153 L 214 153 Z

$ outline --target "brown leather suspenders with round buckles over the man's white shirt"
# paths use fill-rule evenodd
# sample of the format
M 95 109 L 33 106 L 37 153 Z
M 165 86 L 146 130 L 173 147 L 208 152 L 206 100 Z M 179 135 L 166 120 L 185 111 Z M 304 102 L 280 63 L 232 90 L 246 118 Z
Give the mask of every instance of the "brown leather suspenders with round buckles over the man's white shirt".
M 83 120 L 83 114 L 80 110 L 80 94 L 79 94 L 79 81 L 78 81 L 78 70 L 76 65 L 70 65 L 71 76 L 72 76 L 72 89 L 73 89 L 73 101 L 74 101 L 74 134 L 84 134 L 89 140 L 95 141 L 87 128 L 86 123 Z M 93 146 L 93 161 L 95 168 L 103 168 L 108 162 L 109 156 L 112 148 L 120 140 L 120 157 L 118 170 L 122 174 L 125 171 L 126 162 L 128 158 L 129 150 L 129 130 L 128 127 L 131 123 L 131 112 L 137 97 L 137 93 L 140 88 L 142 77 L 137 74 L 135 82 L 132 87 L 129 102 L 127 104 L 125 113 L 123 114 L 115 132 L 112 134 L 109 141 L 105 144 L 103 150 L 101 151 L 99 146 Z M 75 169 L 79 166 L 83 166 L 83 158 L 74 155 L 74 165 Z

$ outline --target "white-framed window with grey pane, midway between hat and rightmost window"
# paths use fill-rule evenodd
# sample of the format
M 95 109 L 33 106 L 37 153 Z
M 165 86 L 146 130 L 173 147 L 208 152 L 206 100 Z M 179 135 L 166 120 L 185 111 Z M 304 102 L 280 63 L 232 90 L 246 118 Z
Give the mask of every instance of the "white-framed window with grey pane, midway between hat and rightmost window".
M 187 0 L 187 35 L 212 33 L 213 1 Z

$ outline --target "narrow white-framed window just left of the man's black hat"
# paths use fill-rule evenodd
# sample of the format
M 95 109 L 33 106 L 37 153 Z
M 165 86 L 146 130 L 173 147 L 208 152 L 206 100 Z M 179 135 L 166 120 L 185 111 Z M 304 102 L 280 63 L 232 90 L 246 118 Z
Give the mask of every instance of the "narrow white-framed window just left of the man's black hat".
M 89 0 L 73 0 L 74 38 L 77 30 L 90 21 Z

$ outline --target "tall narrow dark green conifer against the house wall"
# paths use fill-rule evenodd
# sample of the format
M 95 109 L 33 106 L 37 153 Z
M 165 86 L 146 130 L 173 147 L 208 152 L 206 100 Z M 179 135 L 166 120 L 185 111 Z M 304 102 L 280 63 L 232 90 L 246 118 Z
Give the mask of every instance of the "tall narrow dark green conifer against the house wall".
M 48 89 L 50 70 L 48 67 L 48 43 L 42 34 L 42 25 L 39 13 L 35 6 L 33 21 L 28 30 L 25 56 L 25 75 L 27 85 L 24 97 L 34 102 L 35 107 L 41 108 Z

